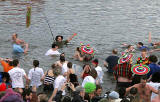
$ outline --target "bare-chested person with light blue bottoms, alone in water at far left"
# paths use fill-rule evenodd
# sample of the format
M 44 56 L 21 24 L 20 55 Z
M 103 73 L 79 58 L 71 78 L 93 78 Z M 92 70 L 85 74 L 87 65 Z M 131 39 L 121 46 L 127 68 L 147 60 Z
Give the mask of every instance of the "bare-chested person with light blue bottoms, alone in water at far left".
M 12 35 L 13 40 L 13 52 L 14 53 L 27 53 L 28 51 L 28 44 L 23 40 L 18 38 L 18 34 L 14 33 Z

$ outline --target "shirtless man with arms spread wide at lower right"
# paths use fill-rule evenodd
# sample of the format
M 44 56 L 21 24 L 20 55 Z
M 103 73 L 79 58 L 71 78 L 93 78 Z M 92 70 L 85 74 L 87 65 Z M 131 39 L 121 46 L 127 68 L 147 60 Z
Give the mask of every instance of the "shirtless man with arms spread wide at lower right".
M 147 77 L 142 76 L 141 83 L 135 84 L 129 88 L 126 89 L 126 92 L 128 93 L 132 87 L 135 87 L 138 89 L 138 94 L 140 96 L 140 102 L 151 102 L 151 94 L 152 92 L 158 94 L 158 90 L 154 89 L 150 85 L 146 84 Z

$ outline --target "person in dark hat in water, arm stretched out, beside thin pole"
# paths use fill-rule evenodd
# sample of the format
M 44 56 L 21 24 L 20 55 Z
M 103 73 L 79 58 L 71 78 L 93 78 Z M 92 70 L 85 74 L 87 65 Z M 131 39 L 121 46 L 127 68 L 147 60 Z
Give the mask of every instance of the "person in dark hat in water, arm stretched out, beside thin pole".
M 57 44 L 58 48 L 62 48 L 63 45 L 66 45 L 67 43 L 69 43 L 72 38 L 74 38 L 77 34 L 74 33 L 71 37 L 69 37 L 67 40 L 63 40 L 63 36 L 58 35 L 55 38 L 55 41 L 53 42 L 53 44 Z

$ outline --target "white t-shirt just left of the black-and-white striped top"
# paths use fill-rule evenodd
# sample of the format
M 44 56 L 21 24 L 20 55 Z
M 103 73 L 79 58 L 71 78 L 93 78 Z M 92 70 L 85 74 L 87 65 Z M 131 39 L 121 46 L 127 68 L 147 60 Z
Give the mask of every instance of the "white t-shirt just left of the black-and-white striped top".
M 43 69 L 36 67 L 29 70 L 28 78 L 31 80 L 30 86 L 42 85 L 41 78 L 44 75 Z

